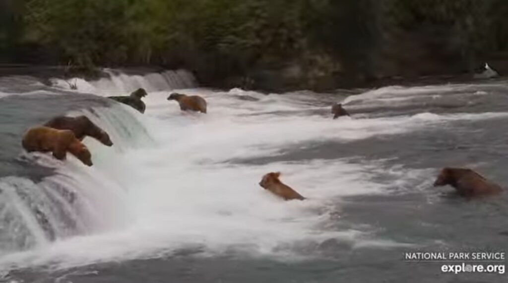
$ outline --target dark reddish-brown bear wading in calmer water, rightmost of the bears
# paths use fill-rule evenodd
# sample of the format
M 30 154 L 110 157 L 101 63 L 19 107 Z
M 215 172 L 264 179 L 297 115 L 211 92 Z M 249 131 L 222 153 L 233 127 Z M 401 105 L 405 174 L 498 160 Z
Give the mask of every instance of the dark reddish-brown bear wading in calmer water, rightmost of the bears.
M 467 198 L 498 194 L 502 188 L 482 175 L 467 168 L 443 168 L 434 187 L 450 185 L 458 194 Z

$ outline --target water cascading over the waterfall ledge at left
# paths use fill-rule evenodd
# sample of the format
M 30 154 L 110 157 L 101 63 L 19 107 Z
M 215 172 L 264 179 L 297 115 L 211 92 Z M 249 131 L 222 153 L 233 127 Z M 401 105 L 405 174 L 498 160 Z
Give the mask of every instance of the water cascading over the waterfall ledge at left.
M 114 70 L 107 72 L 111 78 L 90 83 L 82 80 L 79 86 L 84 89 L 78 91 L 128 94 L 138 87 L 153 91 L 195 86 L 194 78 L 185 71 L 143 76 Z M 57 87 L 69 88 L 63 80 L 55 79 L 54 82 Z M 54 174 L 35 181 L 18 176 L 0 178 L 0 255 L 46 246 L 51 241 L 70 236 L 105 231 L 123 225 L 127 219 L 121 180 L 108 178 L 101 173 L 100 167 L 114 170 L 118 155 L 155 144 L 141 122 L 142 117 L 137 117 L 137 111 L 132 108 L 117 103 L 110 107 L 84 107 L 66 114 L 86 115 L 109 133 L 114 146 L 106 148 L 92 138 L 84 140 L 94 152 L 97 166 L 93 168 L 83 167 L 70 154 L 68 161 L 62 162 L 49 154 L 20 151 L 17 157 L 20 163 L 49 168 Z

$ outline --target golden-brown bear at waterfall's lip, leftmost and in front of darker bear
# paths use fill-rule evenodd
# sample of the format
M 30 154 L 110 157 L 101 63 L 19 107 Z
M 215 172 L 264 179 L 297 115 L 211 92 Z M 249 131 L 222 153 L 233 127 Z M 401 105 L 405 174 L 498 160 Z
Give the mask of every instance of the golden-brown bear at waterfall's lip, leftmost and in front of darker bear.
M 83 164 L 92 166 L 90 151 L 74 136 L 71 130 L 56 130 L 43 126 L 30 128 L 23 136 L 22 145 L 28 152 L 51 151 L 58 160 L 66 159 L 69 151 Z

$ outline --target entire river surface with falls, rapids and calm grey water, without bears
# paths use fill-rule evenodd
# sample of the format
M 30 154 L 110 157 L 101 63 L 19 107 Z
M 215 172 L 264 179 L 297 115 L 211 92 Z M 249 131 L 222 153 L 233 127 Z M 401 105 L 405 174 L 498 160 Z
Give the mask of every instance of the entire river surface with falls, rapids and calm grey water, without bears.
M 0 281 L 506 280 L 404 253 L 508 250 L 505 195 L 432 187 L 445 166 L 508 184 L 508 82 L 262 94 L 107 71 L 0 78 Z M 139 87 L 144 115 L 104 98 Z M 181 112 L 173 91 L 203 96 L 208 113 Z M 352 118 L 332 120 L 340 101 Z M 90 168 L 24 152 L 24 131 L 58 114 L 87 115 L 114 146 L 86 138 Z M 308 199 L 263 190 L 271 171 Z

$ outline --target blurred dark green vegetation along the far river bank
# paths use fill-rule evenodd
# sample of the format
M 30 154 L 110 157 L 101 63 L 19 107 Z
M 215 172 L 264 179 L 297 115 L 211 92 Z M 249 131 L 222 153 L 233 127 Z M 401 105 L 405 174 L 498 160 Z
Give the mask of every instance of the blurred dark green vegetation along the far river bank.
M 0 62 L 330 89 L 508 62 L 508 0 L 0 0 Z M 508 70 L 506 70 L 508 71 Z

